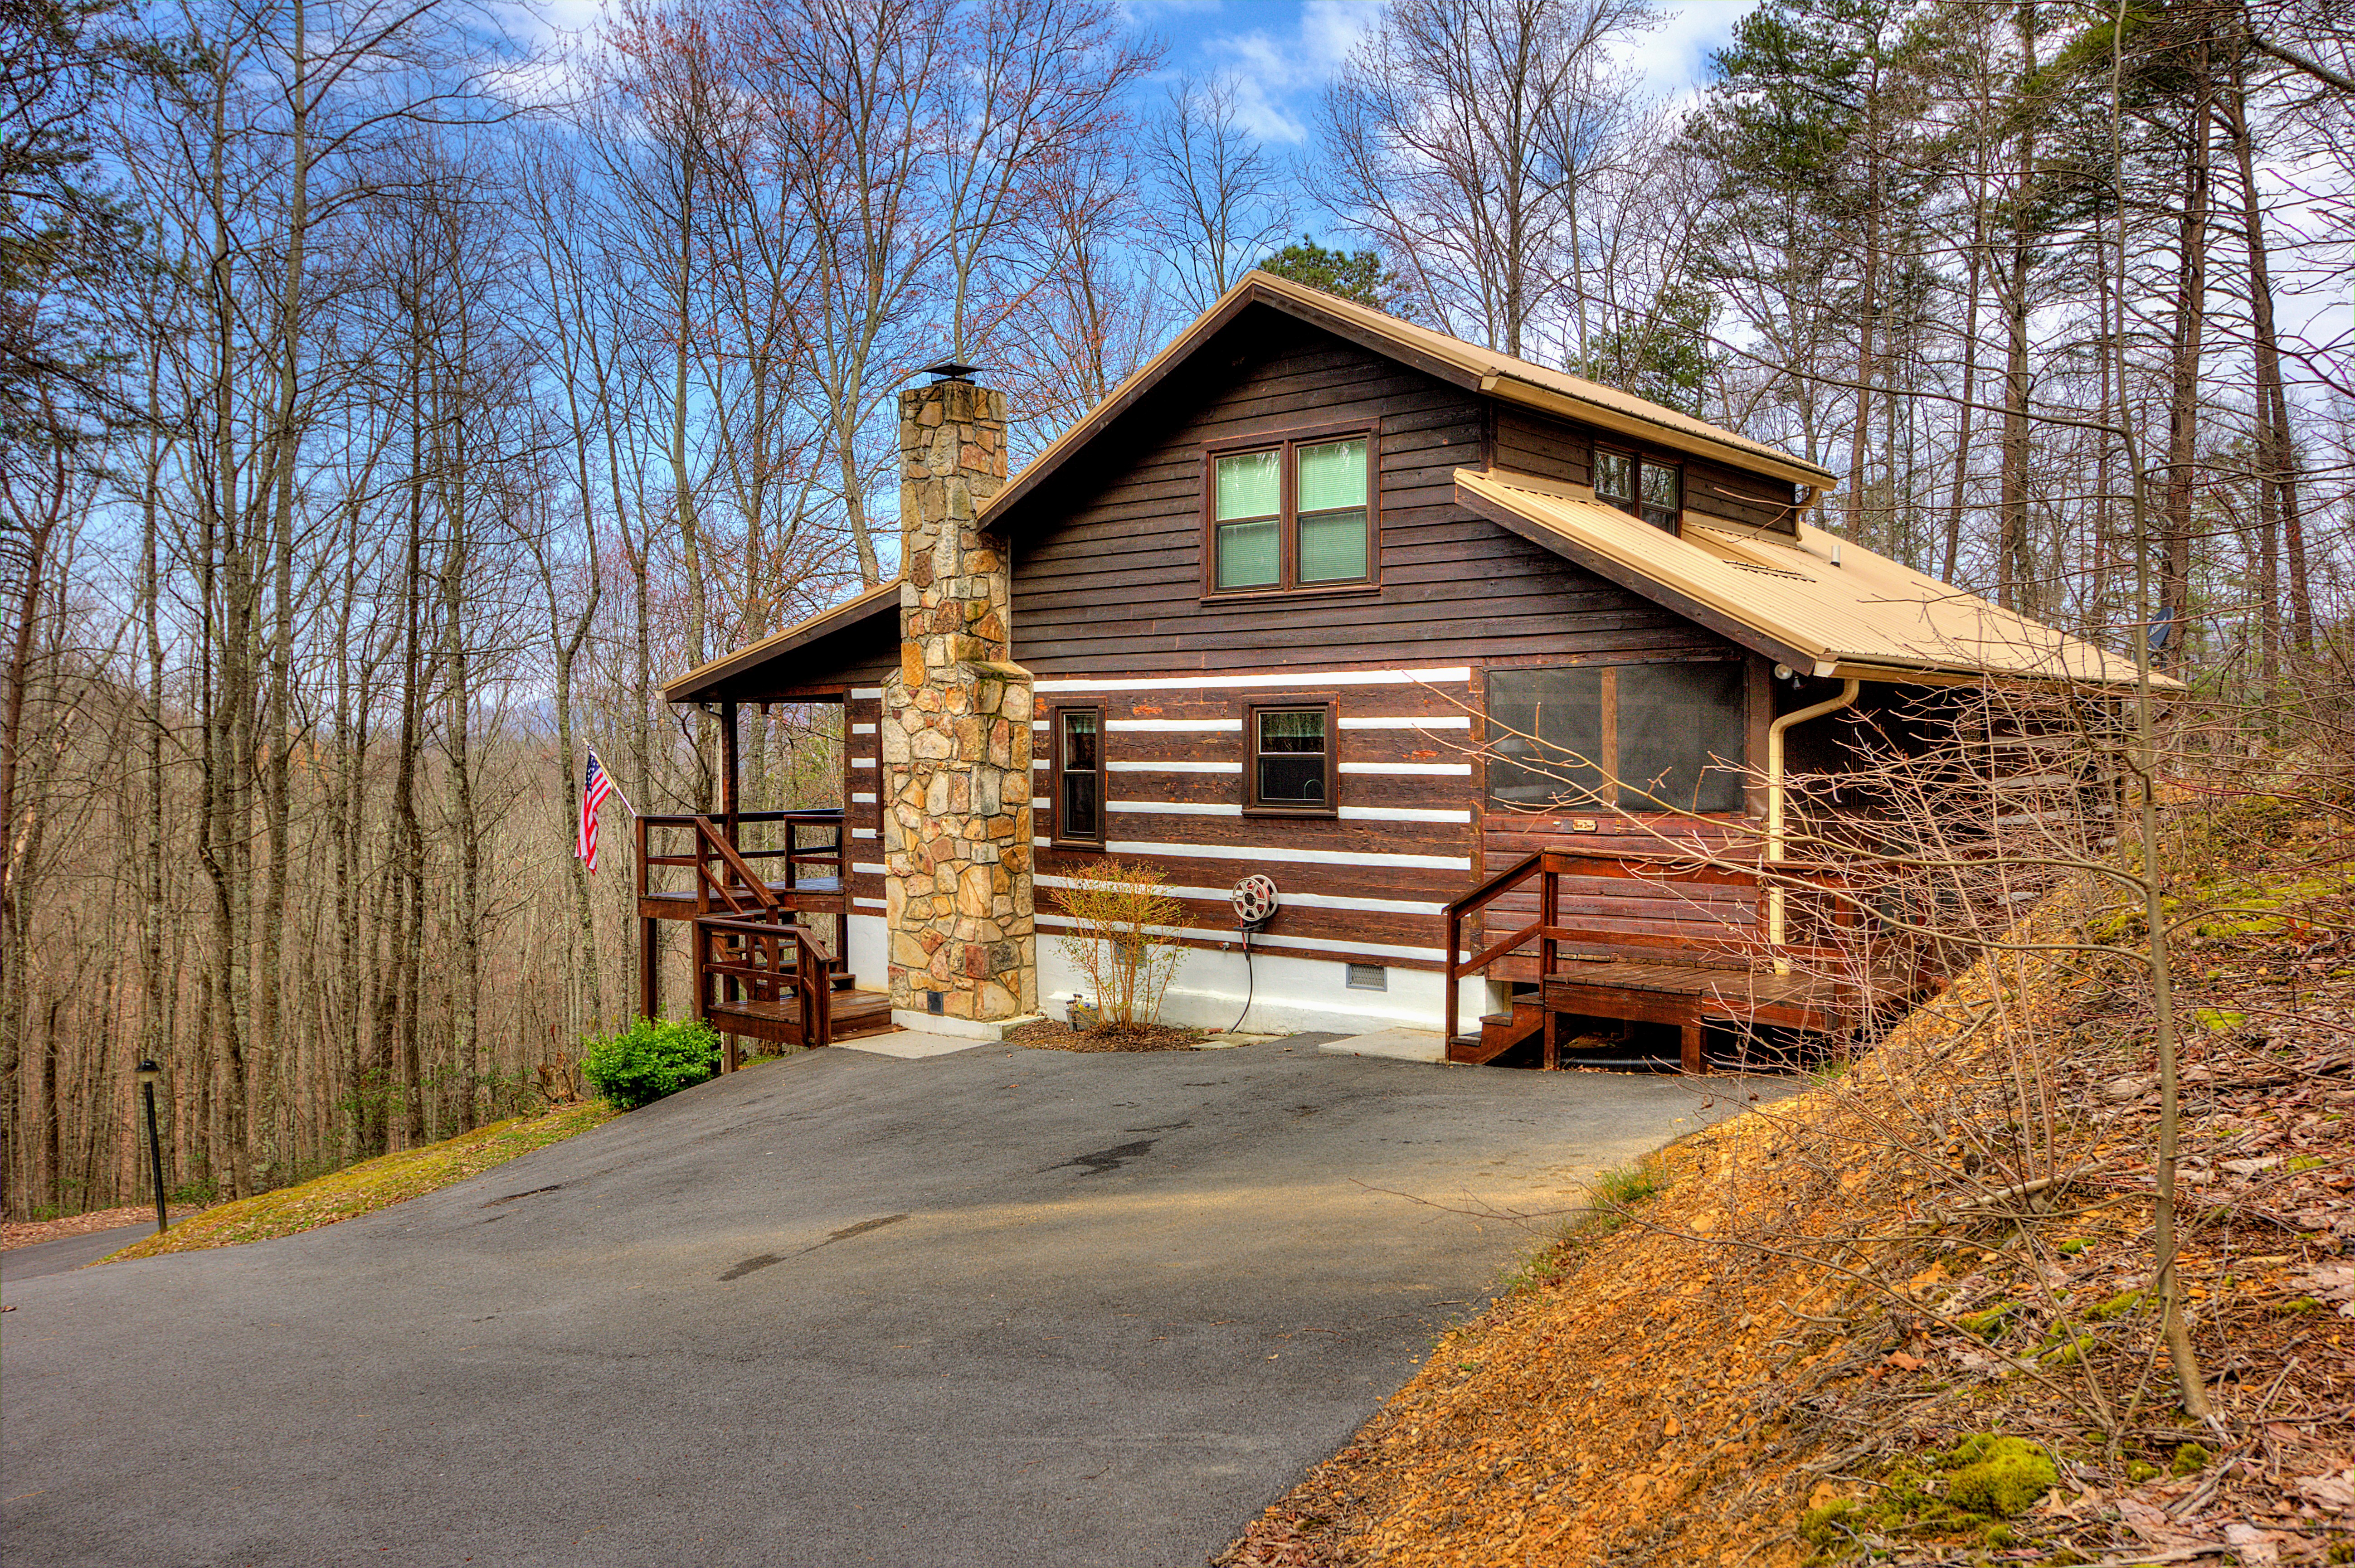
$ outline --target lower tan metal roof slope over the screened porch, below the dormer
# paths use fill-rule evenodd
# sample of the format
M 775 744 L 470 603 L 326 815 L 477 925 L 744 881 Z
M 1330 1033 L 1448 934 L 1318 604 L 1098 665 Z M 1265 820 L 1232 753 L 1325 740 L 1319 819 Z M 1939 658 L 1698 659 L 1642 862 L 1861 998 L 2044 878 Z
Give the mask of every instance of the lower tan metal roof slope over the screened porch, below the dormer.
M 2134 683 L 2129 659 L 1804 523 L 1797 542 L 1691 520 L 1670 534 L 1580 485 L 1493 469 L 1458 469 L 1455 499 L 1813 676 Z

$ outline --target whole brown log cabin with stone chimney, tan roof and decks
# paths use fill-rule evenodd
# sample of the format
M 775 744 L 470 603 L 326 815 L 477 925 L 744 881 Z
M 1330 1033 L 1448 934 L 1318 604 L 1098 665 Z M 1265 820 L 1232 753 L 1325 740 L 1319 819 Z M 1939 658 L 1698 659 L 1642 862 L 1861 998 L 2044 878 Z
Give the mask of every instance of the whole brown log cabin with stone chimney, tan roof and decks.
M 973 374 L 900 393 L 902 574 L 666 685 L 723 765 L 638 824 L 650 1015 L 685 921 L 730 1036 L 994 1038 L 1076 994 L 1055 892 L 1121 859 L 1185 911 L 1168 1022 L 1552 1067 L 1611 1019 L 1698 1069 L 1922 979 L 1787 930 L 1863 918 L 1780 855 L 1802 725 L 2134 678 L 1811 525 L 1813 461 L 1267 273 L 1010 478 Z M 744 704 L 838 704 L 838 800 L 737 810 Z

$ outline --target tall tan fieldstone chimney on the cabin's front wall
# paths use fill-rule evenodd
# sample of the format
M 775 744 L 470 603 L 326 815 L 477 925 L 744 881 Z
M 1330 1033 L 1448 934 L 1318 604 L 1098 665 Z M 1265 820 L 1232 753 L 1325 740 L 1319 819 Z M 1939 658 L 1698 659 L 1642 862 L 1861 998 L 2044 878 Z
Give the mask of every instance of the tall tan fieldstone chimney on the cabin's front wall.
M 1031 678 L 1010 662 L 1006 393 L 961 367 L 900 393 L 900 671 L 883 683 L 890 1003 L 909 1029 L 996 1038 L 1039 1008 Z

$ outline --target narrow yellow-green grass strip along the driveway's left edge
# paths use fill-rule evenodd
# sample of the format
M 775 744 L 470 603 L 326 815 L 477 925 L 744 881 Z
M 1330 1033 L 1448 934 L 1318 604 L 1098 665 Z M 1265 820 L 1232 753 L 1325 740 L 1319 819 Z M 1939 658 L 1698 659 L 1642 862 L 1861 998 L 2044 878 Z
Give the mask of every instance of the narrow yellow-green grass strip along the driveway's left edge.
M 316 1231 L 337 1220 L 351 1220 L 393 1203 L 422 1198 L 466 1177 L 483 1175 L 492 1165 L 504 1165 L 518 1154 L 560 1144 L 589 1128 L 612 1121 L 605 1104 L 568 1104 L 546 1116 L 516 1116 L 487 1128 L 476 1128 L 424 1149 L 403 1149 L 372 1161 L 360 1161 L 323 1175 L 299 1187 L 280 1187 L 236 1203 L 207 1208 L 203 1215 L 174 1224 L 162 1236 L 148 1236 L 127 1245 L 106 1262 L 125 1257 L 153 1257 L 158 1253 L 198 1253 L 203 1248 L 236 1248 L 247 1241 Z

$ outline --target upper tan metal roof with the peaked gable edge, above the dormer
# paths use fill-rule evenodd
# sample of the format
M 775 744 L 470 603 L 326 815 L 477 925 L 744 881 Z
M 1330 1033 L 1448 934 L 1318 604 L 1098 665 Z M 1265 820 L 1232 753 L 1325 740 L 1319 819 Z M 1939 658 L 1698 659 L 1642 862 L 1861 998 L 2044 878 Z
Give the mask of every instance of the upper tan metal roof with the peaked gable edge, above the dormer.
M 1517 360 L 1510 353 L 1467 344 L 1460 337 L 1448 337 L 1446 332 L 1434 332 L 1432 327 L 1418 327 L 1411 320 L 1385 315 L 1382 311 L 1373 311 L 1352 299 L 1340 299 L 1338 294 L 1326 294 L 1324 290 L 1312 290 L 1305 283 L 1293 283 L 1291 278 L 1248 271 L 1232 290 L 1220 294 L 1208 311 L 1196 315 L 1194 325 L 1180 332 L 1168 348 L 1145 360 L 1145 365 L 1114 386 L 1102 403 L 1088 410 L 1086 417 L 1050 440 L 1046 450 L 1039 452 L 1039 457 L 1034 457 L 1022 473 L 1006 485 L 1006 490 L 982 504 L 980 516 L 989 523 L 1008 516 L 1008 509 L 1017 506 L 1022 497 L 1053 476 L 1074 452 L 1095 440 L 1107 424 L 1128 412 L 1145 393 L 1159 386 L 1173 370 L 1178 370 L 1178 365 L 1182 365 L 1215 332 L 1253 304 L 1265 304 L 1283 311 L 1286 315 L 1298 315 L 1300 320 L 1338 332 L 1340 337 L 1373 348 L 1375 353 L 1387 353 L 1389 358 L 1415 365 L 1418 370 L 1425 370 L 1444 381 L 1488 393 L 1491 398 L 1500 398 L 1505 403 L 1519 403 L 1550 414 L 1583 419 L 1585 424 L 1594 424 L 1620 436 L 1653 440 L 1679 452 L 1714 457 L 1790 485 L 1813 485 L 1825 490 L 1839 483 L 1839 476 L 1830 469 L 1792 457 L 1780 447 L 1769 447 L 1762 440 L 1724 431 L 1705 419 L 1693 419 L 1691 414 L 1681 414 L 1672 407 L 1646 403 L 1644 398 L 1623 393 L 1613 386 L 1585 381 L 1561 370 L 1547 370 L 1545 365 L 1531 365 L 1528 360 Z

